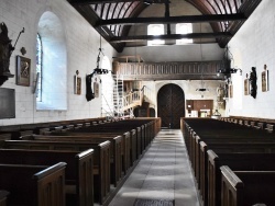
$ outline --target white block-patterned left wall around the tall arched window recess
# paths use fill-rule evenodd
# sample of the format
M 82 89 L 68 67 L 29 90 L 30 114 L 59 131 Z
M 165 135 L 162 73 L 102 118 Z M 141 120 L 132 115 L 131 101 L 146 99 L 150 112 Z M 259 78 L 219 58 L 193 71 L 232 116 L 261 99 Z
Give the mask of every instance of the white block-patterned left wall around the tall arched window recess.
M 35 43 L 37 23 L 45 11 L 54 12 L 64 26 L 67 46 L 67 111 L 36 111 L 35 96 L 32 93 L 35 76 Z M 12 45 L 22 27 L 25 27 L 11 56 L 10 71 L 15 73 L 15 57 L 21 55 L 21 47 L 25 47 L 25 57 L 32 61 L 31 87 L 15 84 L 15 78 L 10 78 L 2 88 L 15 89 L 15 118 L 0 119 L 1 125 L 31 124 L 98 117 L 101 114 L 101 99 L 86 100 L 85 76 L 96 68 L 99 34 L 91 28 L 86 20 L 67 2 L 67 0 L 1 0 L 0 22 L 4 22 L 9 30 Z M 116 56 L 116 50 L 102 39 L 105 55 L 109 59 Z M 79 70 L 81 77 L 81 95 L 74 94 L 74 76 Z M 54 73 L 53 73 L 54 75 Z M 101 89 L 101 88 L 100 88 Z

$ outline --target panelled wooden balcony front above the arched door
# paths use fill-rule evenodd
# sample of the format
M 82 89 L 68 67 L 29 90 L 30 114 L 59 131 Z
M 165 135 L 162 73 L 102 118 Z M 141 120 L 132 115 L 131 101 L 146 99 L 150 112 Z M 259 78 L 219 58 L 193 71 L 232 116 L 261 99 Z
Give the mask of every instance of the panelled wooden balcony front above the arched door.
M 217 76 L 221 61 L 183 62 L 119 62 L 113 61 L 116 75 L 124 80 L 223 80 Z

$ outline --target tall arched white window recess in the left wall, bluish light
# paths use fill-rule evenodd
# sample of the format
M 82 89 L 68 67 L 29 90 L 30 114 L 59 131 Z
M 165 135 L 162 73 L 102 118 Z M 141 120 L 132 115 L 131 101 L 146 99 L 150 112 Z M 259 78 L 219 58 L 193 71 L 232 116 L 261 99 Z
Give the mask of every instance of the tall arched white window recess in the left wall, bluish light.
M 41 93 L 36 110 L 67 110 L 67 52 L 63 24 L 56 14 L 46 11 L 38 21 L 37 33 Z

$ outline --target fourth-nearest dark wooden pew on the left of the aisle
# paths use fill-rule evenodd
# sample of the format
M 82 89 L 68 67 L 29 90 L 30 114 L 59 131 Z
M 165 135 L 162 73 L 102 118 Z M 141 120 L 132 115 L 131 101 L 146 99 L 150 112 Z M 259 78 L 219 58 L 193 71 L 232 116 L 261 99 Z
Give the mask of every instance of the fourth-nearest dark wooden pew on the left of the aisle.
M 70 134 L 70 136 L 69 136 Z M 110 141 L 110 179 L 111 183 L 117 186 L 122 178 L 122 136 L 97 136 L 92 134 L 79 134 L 78 133 L 64 133 L 61 136 L 54 135 L 28 135 L 22 136 L 22 140 L 42 140 L 42 141 L 89 141 L 89 142 L 103 142 Z

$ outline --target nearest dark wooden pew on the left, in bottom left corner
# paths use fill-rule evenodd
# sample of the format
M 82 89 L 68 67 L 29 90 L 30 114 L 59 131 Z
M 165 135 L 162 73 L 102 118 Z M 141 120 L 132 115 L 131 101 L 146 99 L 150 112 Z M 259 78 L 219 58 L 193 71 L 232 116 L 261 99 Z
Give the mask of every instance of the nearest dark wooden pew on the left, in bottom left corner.
M 65 162 L 46 165 L 0 164 L 8 206 L 65 206 Z

